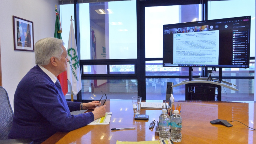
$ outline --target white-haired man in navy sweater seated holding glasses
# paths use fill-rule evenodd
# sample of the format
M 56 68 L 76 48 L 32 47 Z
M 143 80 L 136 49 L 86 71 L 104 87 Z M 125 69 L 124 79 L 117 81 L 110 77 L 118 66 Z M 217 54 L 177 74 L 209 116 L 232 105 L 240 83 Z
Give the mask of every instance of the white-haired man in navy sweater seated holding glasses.
M 30 138 L 41 143 L 58 131 L 69 132 L 105 116 L 106 106 L 66 101 L 57 76 L 67 70 L 67 50 L 57 38 L 35 44 L 34 66 L 20 81 L 14 94 L 13 126 L 8 138 Z M 94 109 L 71 115 L 70 111 Z

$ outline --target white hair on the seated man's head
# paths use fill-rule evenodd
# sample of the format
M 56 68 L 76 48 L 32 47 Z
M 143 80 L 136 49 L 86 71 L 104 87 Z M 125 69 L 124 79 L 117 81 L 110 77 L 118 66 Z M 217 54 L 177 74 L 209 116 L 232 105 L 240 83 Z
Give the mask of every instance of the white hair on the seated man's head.
M 50 63 L 51 57 L 56 57 L 60 60 L 63 53 L 62 45 L 64 45 L 62 39 L 51 37 L 37 41 L 34 48 L 36 64 L 47 65 Z

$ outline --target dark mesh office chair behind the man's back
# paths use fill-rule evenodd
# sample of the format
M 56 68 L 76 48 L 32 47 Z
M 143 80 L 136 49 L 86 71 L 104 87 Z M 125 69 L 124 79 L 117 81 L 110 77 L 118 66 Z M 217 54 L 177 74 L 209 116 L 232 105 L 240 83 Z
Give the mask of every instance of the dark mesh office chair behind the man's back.
M 7 139 L 12 128 L 13 111 L 7 91 L 0 86 L 0 144 L 30 144 L 31 139 Z

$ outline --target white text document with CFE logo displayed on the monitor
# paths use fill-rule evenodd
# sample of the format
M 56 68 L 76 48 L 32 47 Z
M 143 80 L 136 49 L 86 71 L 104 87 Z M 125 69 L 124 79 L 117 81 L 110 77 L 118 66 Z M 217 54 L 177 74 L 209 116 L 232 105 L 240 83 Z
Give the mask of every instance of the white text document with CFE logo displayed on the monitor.
M 173 64 L 218 65 L 219 30 L 174 34 Z

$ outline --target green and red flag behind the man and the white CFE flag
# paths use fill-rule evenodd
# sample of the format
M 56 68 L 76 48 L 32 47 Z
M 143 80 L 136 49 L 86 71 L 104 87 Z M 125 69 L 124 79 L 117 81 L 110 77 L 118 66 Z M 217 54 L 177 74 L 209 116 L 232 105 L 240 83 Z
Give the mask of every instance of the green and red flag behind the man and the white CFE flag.
M 55 13 L 56 13 L 56 21 L 55 21 L 55 32 L 54 37 L 58 39 L 62 39 L 61 37 L 61 25 L 60 25 L 60 15 L 57 11 L 57 6 L 55 5 Z M 68 93 L 68 78 L 67 78 L 67 71 L 62 72 L 57 76 L 58 80 L 60 81 L 61 89 L 64 95 Z

